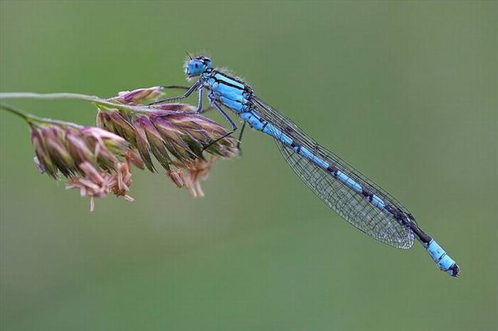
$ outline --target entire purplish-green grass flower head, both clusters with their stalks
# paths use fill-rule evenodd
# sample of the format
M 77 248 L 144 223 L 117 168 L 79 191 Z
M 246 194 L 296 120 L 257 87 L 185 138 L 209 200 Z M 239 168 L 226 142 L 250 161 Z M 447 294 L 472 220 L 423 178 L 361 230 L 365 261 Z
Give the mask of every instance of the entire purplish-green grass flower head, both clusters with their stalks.
M 228 131 L 189 104 L 147 106 L 164 96 L 156 86 L 120 92 L 100 99 L 83 94 L 29 94 L 41 98 L 84 99 L 98 107 L 97 127 L 41 119 L 13 107 L 0 105 L 25 119 L 31 126 L 34 162 L 41 173 L 52 178 L 68 178 L 68 188 L 78 188 L 90 197 L 112 193 L 132 201 L 130 165 L 156 170 L 154 159 L 180 188 L 189 188 L 194 197 L 203 196 L 201 180 L 206 180 L 217 158 L 238 154 L 236 140 Z M 220 137 L 224 137 L 220 139 Z

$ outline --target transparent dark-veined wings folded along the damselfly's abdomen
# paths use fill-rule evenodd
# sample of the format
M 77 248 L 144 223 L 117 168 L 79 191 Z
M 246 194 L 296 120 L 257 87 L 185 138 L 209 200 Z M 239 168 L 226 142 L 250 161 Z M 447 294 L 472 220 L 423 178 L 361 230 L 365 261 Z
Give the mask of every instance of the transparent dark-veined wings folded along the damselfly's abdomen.
M 409 249 L 413 245 L 414 237 L 409 224 L 415 220 L 401 203 L 334 153 L 320 146 L 277 109 L 272 108 L 258 97 L 254 97 L 254 102 L 255 113 L 258 116 L 273 124 L 279 132 L 290 136 L 295 143 L 306 147 L 315 156 L 356 181 L 361 185 L 363 192 L 371 192 L 372 195 L 379 197 L 385 206 L 379 208 L 373 205 L 369 196 L 352 190 L 327 170 L 320 168 L 290 146 L 275 139 L 282 156 L 290 164 L 292 170 L 330 209 L 362 232 L 383 243 L 401 249 Z

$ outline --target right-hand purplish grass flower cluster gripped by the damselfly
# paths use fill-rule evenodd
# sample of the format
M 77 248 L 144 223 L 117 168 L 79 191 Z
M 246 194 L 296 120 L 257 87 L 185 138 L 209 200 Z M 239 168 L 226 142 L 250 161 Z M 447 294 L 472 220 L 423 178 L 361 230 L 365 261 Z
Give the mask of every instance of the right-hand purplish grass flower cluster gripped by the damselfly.
M 207 178 L 215 156 L 237 155 L 236 140 L 226 136 L 228 132 L 220 124 L 195 114 L 196 108 L 189 104 L 158 104 L 144 111 L 139 102 L 154 101 L 161 93 L 160 87 L 120 92 L 110 100 L 132 109 L 137 107 L 137 111 L 100 105 L 97 126 L 126 139 L 134 155 L 139 156 L 149 170 L 156 170 L 154 156 L 177 187 L 188 187 L 194 197 L 203 196 L 200 180 Z M 219 139 L 221 136 L 226 137 Z

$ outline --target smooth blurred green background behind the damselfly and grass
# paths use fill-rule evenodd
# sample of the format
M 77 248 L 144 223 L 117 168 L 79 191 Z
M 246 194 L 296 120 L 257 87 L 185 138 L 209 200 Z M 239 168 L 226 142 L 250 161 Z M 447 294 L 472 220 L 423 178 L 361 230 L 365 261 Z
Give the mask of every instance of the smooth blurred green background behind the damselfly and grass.
M 203 199 L 135 171 L 135 203 L 107 197 L 90 214 L 0 112 L 1 330 L 496 330 L 497 13 L 495 1 L 1 1 L 2 92 L 186 84 L 184 52 L 206 52 L 401 200 L 462 268 L 450 278 L 418 243 L 361 234 L 250 130 Z M 8 102 L 95 123 L 85 102 Z

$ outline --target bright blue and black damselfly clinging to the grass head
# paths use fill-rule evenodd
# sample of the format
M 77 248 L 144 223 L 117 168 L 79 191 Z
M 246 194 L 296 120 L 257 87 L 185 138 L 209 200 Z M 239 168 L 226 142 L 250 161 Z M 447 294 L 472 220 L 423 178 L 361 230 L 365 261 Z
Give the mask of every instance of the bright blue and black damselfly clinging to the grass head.
M 243 119 L 244 125 L 247 123 L 253 129 L 272 136 L 292 170 L 325 205 L 347 222 L 369 236 L 401 249 L 410 249 L 416 238 L 441 270 L 459 276 L 459 266 L 418 227 L 406 207 L 339 156 L 319 145 L 287 116 L 260 99 L 248 84 L 214 68 L 211 59 L 203 55 L 195 58 L 189 55 L 185 72 L 189 78 L 198 77 L 194 85 L 179 97 L 154 103 L 184 99 L 197 91 L 197 111 L 201 112 L 203 92 L 207 91 L 211 105 L 231 125 L 230 134 L 237 126 L 224 108 L 235 112 Z

